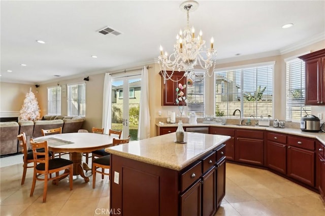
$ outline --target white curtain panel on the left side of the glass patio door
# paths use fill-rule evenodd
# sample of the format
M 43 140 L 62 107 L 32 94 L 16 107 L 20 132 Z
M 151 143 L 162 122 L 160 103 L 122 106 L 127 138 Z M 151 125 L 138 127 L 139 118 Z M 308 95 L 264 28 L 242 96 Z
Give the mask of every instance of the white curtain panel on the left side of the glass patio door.
M 103 93 L 103 121 L 102 127 L 104 128 L 104 133 L 107 134 L 108 130 L 111 128 L 112 123 L 112 75 L 109 73 L 105 74 L 104 80 L 104 93 Z

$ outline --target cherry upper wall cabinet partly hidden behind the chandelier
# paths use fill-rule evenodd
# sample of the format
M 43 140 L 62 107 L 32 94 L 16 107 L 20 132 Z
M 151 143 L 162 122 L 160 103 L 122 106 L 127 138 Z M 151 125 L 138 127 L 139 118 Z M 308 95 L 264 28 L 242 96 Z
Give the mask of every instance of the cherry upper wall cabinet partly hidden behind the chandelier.
M 169 76 L 172 75 L 173 71 L 166 71 Z M 166 80 L 166 84 L 164 84 L 163 71 L 159 72 L 161 76 L 161 105 L 177 105 L 176 103 L 176 88 L 178 84 L 182 85 L 186 84 L 186 77 L 183 77 L 184 72 L 174 71 L 172 80 Z M 184 95 L 186 95 L 186 88 L 183 89 Z

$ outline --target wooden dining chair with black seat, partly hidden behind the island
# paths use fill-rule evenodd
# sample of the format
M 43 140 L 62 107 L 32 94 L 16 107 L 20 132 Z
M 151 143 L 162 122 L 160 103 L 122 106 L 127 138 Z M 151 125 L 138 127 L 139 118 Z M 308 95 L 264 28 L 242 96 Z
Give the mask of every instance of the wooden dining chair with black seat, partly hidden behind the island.
M 120 144 L 128 143 L 130 141 L 131 135 L 128 135 L 126 139 L 115 139 L 113 138 L 113 146 L 117 146 Z M 104 179 L 104 175 L 110 175 L 110 172 L 105 172 L 105 169 L 110 169 L 110 160 L 111 155 L 106 155 L 92 161 L 92 188 L 95 188 L 96 183 L 96 173 L 102 174 L 102 179 Z M 98 168 L 102 168 L 101 171 L 97 170 Z

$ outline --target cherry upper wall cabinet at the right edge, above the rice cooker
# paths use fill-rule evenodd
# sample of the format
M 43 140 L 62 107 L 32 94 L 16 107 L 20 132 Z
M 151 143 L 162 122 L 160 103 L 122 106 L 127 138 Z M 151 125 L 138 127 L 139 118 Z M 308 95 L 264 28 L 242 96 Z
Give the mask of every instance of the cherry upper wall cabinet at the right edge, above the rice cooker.
M 325 105 L 325 49 L 299 57 L 306 65 L 306 105 Z

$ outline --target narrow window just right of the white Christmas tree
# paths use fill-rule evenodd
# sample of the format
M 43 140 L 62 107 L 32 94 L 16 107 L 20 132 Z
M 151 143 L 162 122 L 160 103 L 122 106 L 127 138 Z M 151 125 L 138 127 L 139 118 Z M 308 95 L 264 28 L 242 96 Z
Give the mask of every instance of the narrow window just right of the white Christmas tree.
M 49 87 L 47 89 L 47 114 L 61 115 L 61 87 Z

